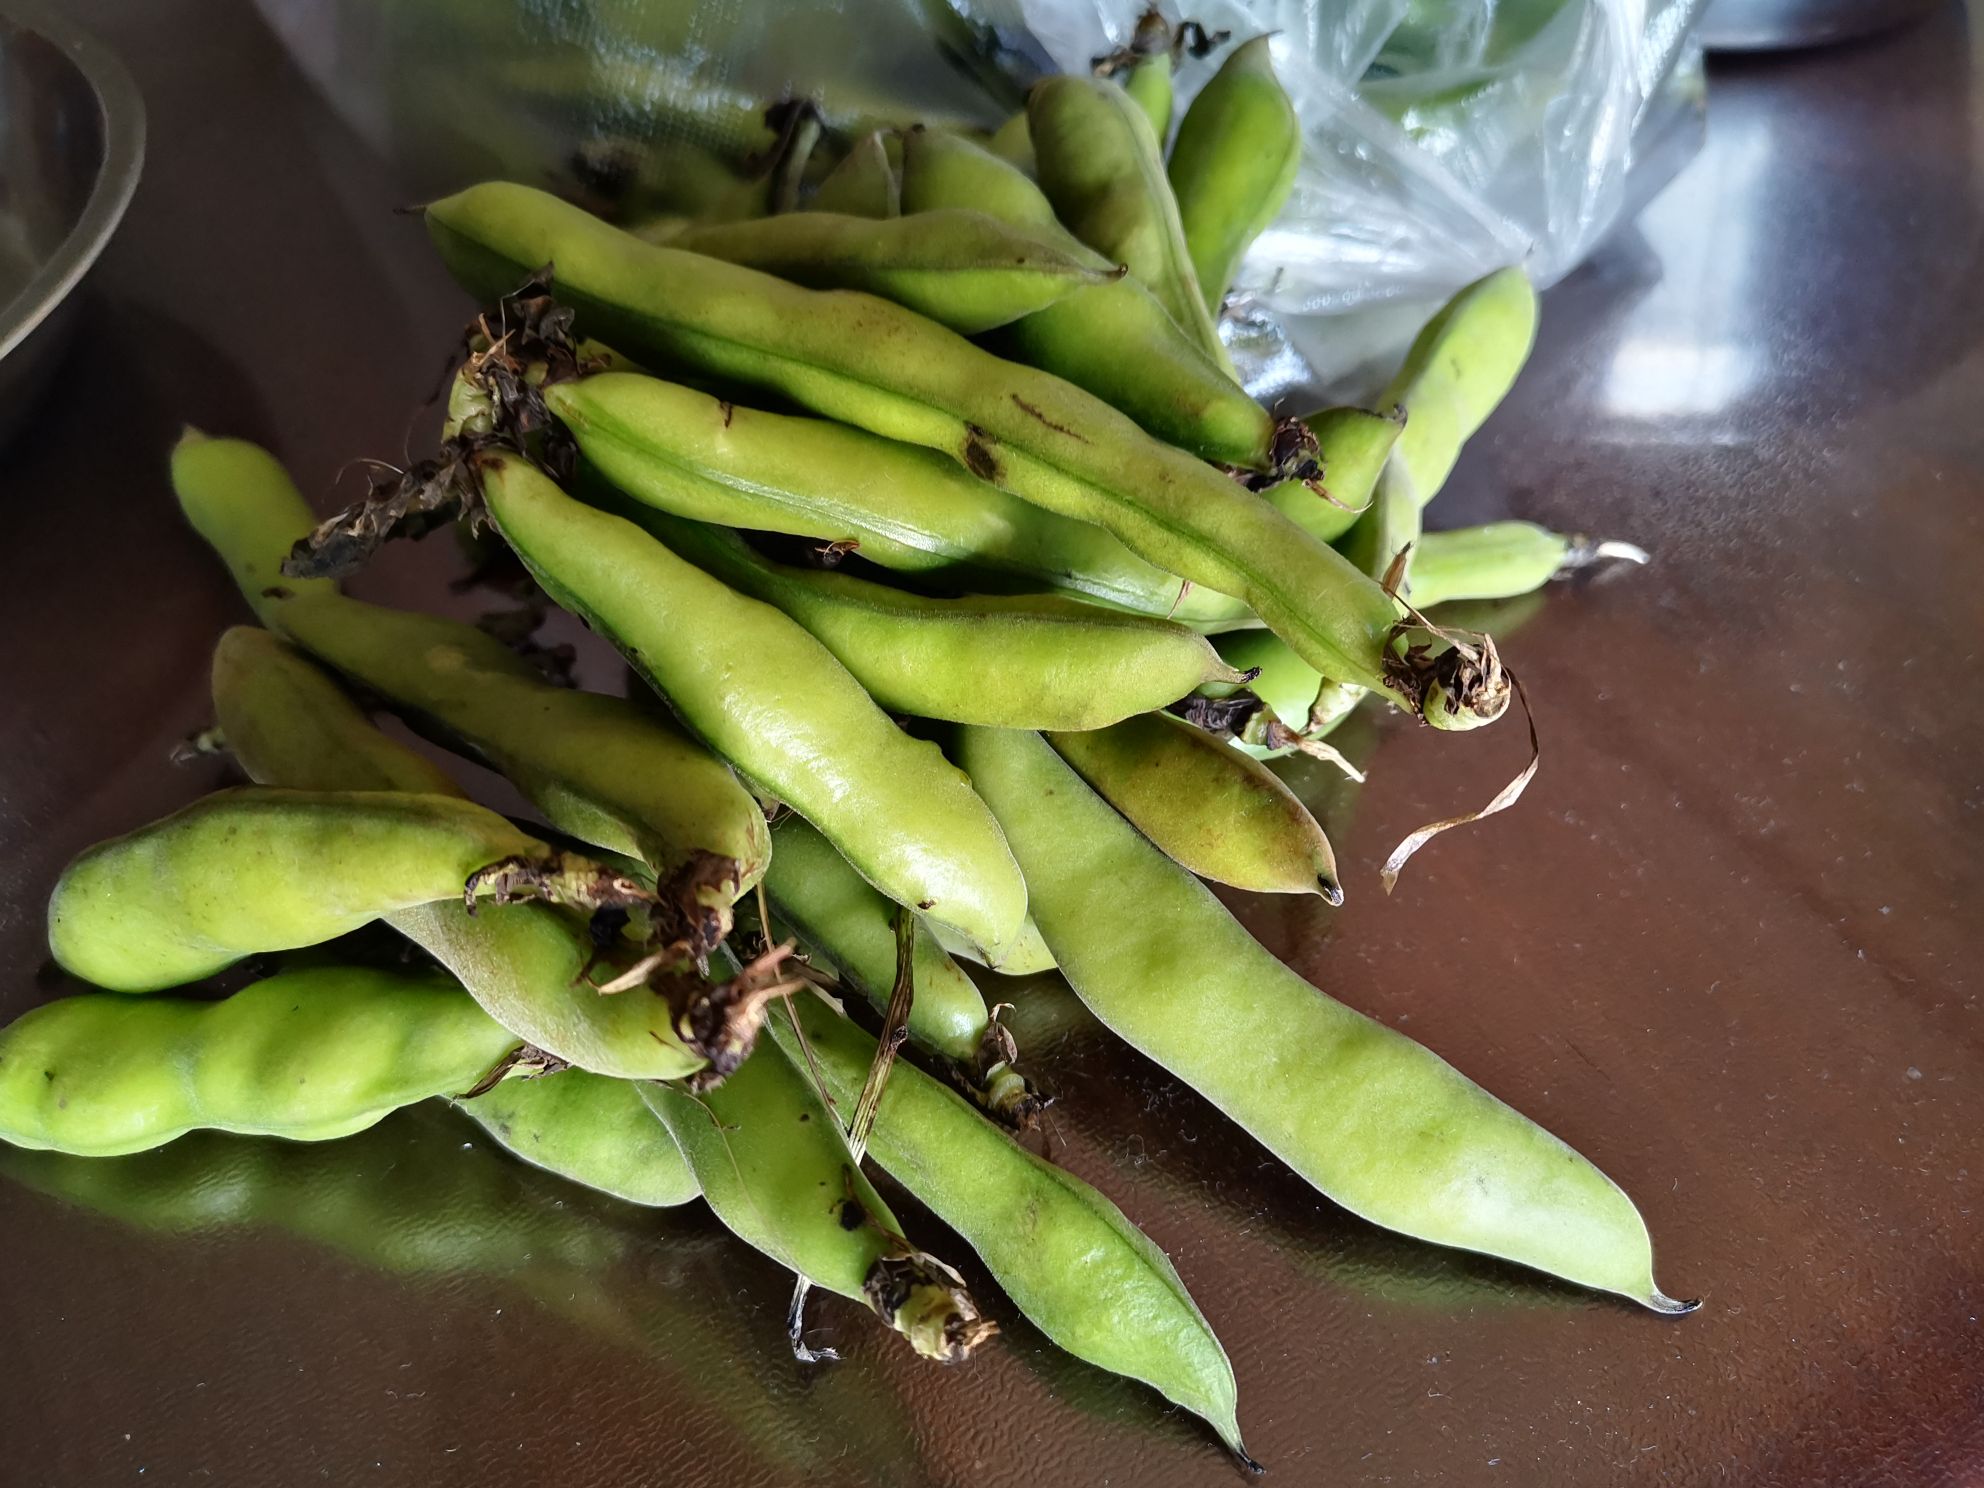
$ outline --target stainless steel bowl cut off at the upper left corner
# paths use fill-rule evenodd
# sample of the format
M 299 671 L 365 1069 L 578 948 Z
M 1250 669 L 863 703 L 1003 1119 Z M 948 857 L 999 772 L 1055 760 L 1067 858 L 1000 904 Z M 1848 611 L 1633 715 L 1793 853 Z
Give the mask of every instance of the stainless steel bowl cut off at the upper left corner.
M 75 286 L 145 161 L 145 103 L 89 36 L 0 0 L 0 440 L 56 369 Z

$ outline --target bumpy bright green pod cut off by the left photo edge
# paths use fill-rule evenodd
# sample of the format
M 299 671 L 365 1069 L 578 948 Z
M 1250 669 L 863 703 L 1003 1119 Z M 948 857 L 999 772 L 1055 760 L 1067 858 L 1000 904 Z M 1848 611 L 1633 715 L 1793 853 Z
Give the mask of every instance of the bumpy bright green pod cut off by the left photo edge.
M 315 966 L 230 998 L 87 994 L 0 1030 L 0 1141 L 81 1157 L 214 1129 L 329 1141 L 518 1048 L 446 976 Z

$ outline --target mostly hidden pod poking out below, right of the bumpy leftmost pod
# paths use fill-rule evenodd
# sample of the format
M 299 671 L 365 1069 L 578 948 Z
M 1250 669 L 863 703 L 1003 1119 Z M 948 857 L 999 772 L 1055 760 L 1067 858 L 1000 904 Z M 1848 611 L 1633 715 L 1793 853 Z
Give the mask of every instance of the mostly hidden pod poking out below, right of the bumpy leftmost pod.
M 629 1204 L 671 1208 L 702 1192 L 631 1079 L 559 1069 L 456 1105 L 532 1167 Z

